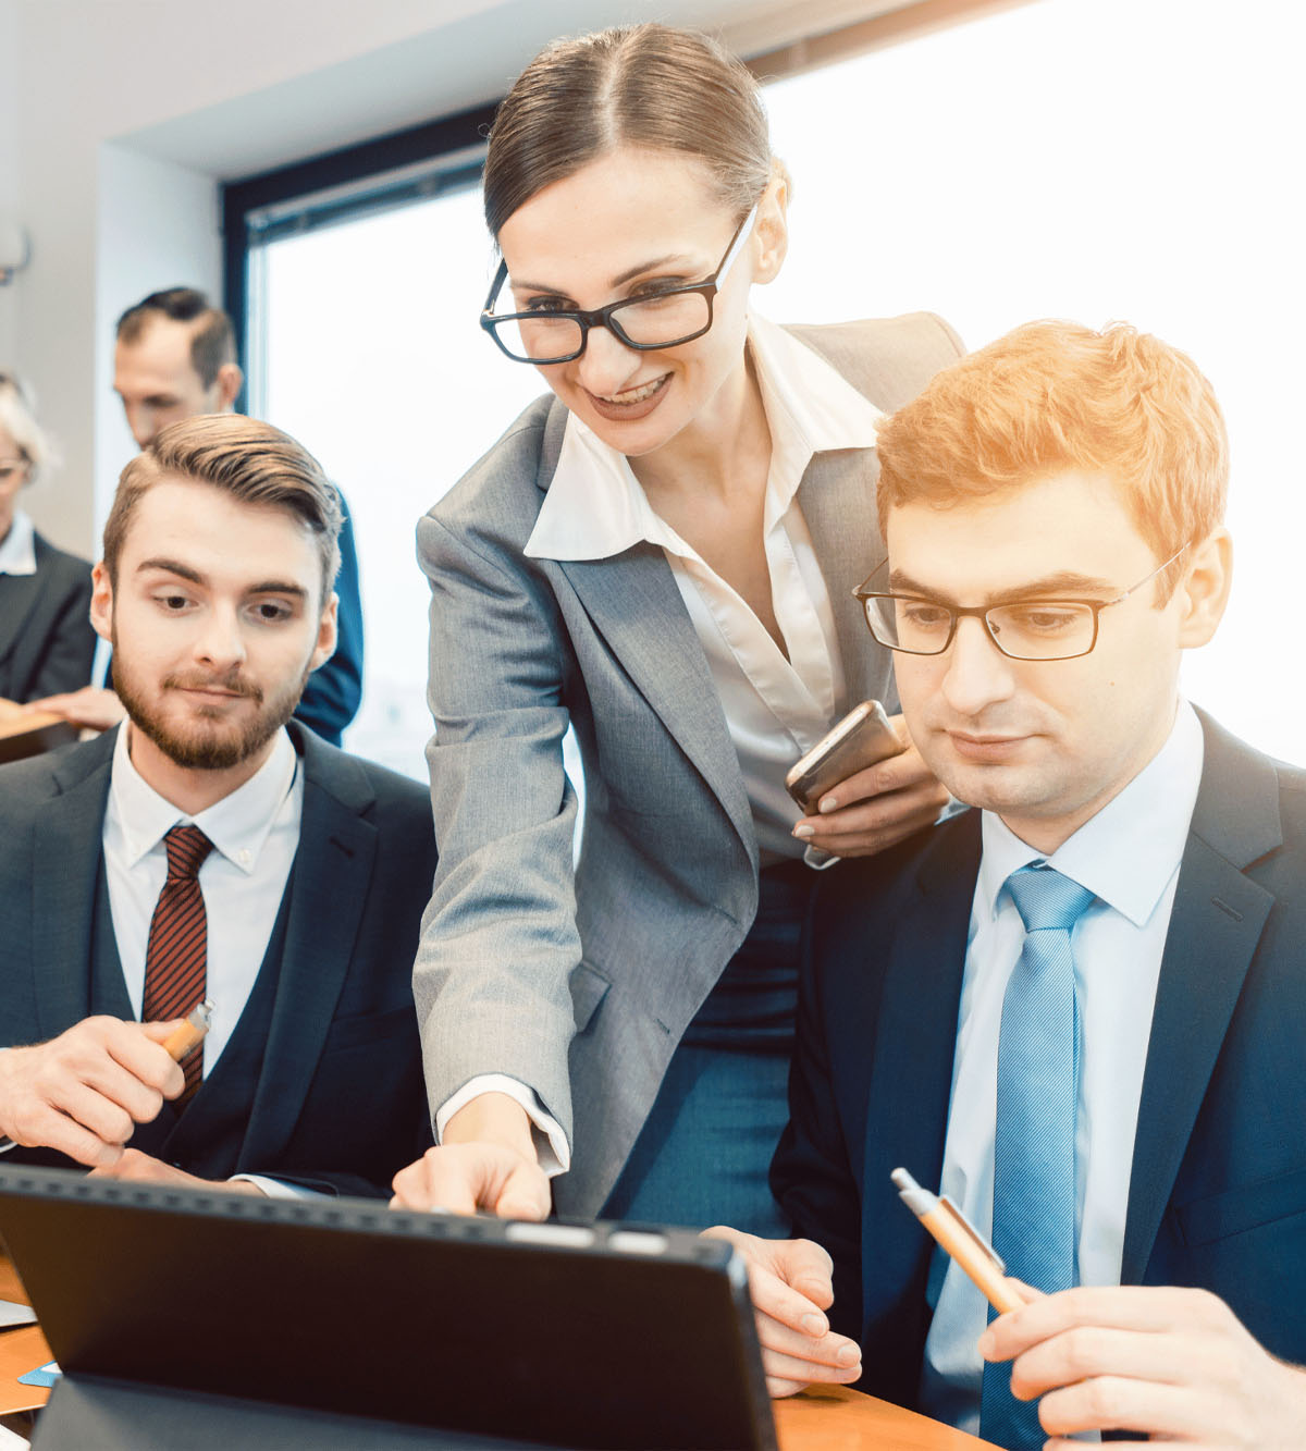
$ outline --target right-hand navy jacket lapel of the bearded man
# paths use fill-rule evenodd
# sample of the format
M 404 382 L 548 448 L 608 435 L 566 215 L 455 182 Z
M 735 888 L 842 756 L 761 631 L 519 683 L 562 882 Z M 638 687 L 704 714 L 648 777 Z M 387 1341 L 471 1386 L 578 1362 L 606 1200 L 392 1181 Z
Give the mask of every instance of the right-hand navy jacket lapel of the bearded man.
M 295 1129 L 350 969 L 376 859 L 367 778 L 348 757 L 328 756 L 309 731 L 293 723 L 289 728 L 303 756 L 303 815 L 242 1164 L 276 1161 Z

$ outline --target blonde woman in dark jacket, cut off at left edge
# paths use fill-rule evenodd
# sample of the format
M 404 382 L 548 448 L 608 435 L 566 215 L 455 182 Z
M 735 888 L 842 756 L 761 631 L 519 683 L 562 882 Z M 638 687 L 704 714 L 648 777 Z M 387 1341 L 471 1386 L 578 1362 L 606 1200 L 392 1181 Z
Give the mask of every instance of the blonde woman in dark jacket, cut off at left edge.
M 0 698 L 39 699 L 90 682 L 90 564 L 46 543 L 19 506 L 49 454 L 30 402 L 0 373 Z

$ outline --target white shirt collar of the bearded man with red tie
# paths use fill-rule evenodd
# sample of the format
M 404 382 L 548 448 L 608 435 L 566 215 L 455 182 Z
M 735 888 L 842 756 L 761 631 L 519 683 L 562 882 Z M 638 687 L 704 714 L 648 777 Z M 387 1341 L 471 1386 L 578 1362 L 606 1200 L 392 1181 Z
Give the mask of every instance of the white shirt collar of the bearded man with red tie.
M 258 853 L 299 769 L 299 757 L 286 731 L 277 733 L 271 755 L 242 786 L 190 817 L 147 785 L 132 765 L 128 730 L 128 726 L 122 726 L 118 731 L 109 778 L 113 810 L 122 827 L 126 865 L 135 866 L 178 823 L 193 823 L 232 866 L 252 876 Z

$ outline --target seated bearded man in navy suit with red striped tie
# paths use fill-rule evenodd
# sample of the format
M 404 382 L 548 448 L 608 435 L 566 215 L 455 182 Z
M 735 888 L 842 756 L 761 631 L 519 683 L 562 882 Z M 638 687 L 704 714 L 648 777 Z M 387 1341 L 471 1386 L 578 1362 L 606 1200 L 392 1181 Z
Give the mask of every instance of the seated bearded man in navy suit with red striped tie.
M 316 461 L 250 418 L 174 424 L 123 470 L 91 622 L 128 718 L 0 768 L 16 1158 L 380 1196 L 431 1142 L 427 792 L 290 720 L 335 644 L 338 530 Z M 205 998 L 178 1066 L 161 1043 Z

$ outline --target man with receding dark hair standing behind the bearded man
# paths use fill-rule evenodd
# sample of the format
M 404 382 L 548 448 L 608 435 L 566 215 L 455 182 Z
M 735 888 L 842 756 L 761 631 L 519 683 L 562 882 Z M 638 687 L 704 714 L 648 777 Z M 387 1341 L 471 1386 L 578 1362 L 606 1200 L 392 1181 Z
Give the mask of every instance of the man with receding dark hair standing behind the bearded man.
M 231 318 L 194 287 L 151 293 L 118 319 L 113 389 L 142 448 L 168 424 L 232 412 L 242 385 Z M 363 695 L 363 607 L 347 511 L 335 593 L 340 599 L 335 653 L 309 678 L 295 718 L 340 746 Z M 30 708 L 54 711 L 96 730 L 122 718 L 113 692 L 94 686 L 33 701 Z

